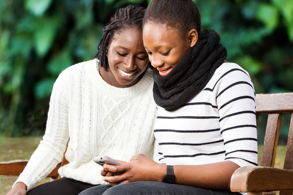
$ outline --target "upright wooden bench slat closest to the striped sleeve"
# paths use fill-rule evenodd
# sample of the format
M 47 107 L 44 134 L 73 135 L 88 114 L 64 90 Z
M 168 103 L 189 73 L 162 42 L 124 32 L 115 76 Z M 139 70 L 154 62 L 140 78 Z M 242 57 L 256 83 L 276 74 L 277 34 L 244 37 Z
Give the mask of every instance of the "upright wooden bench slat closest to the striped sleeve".
M 261 166 L 273 167 L 279 139 L 282 114 L 270 114 L 268 117 Z

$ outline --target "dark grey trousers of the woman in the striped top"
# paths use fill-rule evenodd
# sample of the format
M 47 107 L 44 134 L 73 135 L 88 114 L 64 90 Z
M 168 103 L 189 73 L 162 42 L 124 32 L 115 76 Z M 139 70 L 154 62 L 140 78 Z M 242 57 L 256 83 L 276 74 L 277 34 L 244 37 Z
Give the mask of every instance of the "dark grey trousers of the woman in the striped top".
M 107 190 L 106 190 L 107 189 Z M 80 195 L 241 195 L 230 191 L 208 190 L 192 186 L 142 181 L 114 187 L 100 185 L 89 188 Z

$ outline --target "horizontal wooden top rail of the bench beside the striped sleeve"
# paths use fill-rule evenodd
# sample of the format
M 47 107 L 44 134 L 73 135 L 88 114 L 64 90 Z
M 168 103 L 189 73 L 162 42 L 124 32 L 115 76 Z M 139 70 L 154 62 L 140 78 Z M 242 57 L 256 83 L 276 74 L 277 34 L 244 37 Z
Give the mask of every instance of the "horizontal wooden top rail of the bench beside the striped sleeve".
M 293 93 L 257 94 L 257 113 L 293 112 Z

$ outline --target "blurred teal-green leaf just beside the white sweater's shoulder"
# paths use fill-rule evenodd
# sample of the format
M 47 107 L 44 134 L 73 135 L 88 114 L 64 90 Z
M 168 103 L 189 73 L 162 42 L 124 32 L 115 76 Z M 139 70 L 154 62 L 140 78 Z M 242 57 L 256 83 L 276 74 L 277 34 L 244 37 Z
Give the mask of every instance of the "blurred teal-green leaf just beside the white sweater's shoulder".
M 35 97 L 42 99 L 50 96 L 55 80 L 54 78 L 46 78 L 38 82 L 35 87 Z

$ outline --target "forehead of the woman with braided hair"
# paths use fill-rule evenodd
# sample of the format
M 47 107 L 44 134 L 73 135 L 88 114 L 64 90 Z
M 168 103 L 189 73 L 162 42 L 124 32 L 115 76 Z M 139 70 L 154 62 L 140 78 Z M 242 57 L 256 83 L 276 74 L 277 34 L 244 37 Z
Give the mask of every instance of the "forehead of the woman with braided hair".
M 134 47 L 143 45 L 143 33 L 137 28 L 126 28 L 114 34 L 111 46 Z

